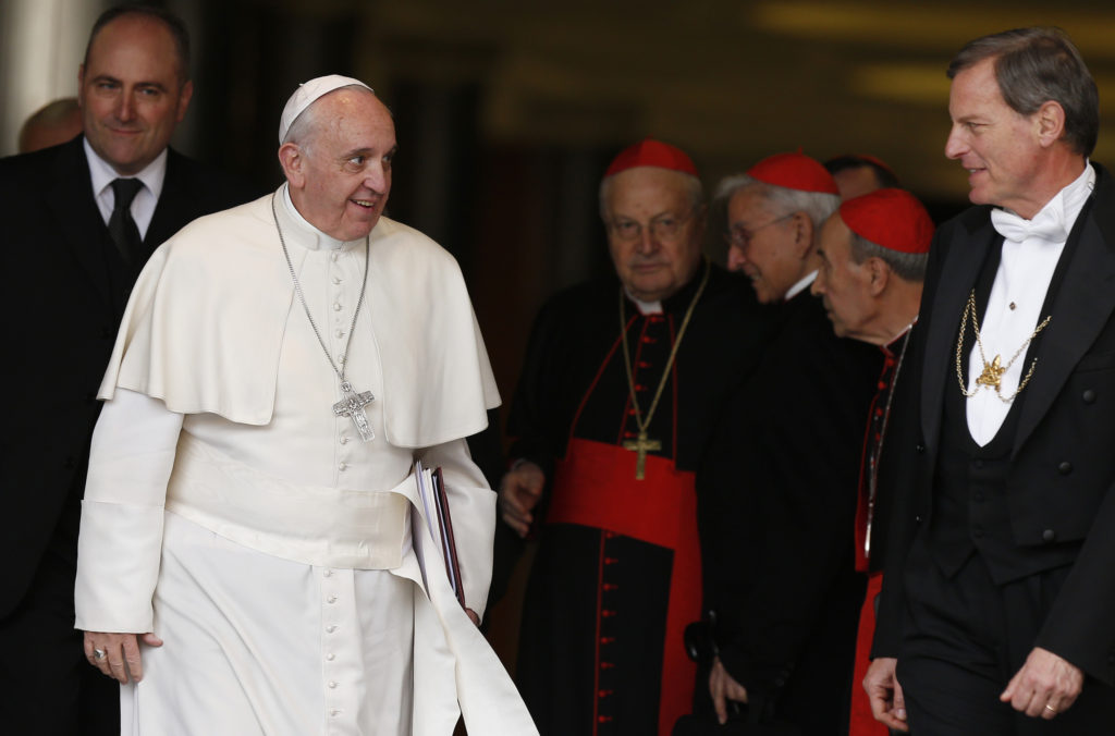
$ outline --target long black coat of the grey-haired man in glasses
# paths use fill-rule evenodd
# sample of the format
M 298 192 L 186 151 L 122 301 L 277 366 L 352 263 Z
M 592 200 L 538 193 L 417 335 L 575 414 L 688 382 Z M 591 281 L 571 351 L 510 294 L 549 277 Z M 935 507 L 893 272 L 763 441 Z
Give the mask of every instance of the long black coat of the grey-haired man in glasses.
M 883 356 L 835 337 L 808 292 L 775 309 L 777 336 L 697 475 L 705 607 L 753 703 L 803 733 L 836 734 L 865 585 L 854 569 L 860 458 Z M 698 711 L 702 697 L 707 680 Z

